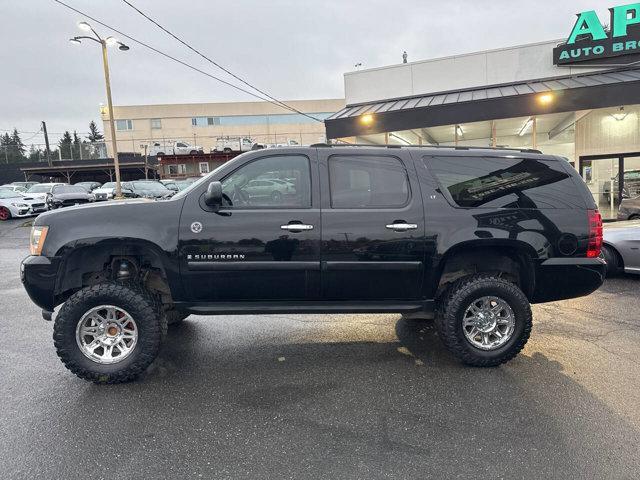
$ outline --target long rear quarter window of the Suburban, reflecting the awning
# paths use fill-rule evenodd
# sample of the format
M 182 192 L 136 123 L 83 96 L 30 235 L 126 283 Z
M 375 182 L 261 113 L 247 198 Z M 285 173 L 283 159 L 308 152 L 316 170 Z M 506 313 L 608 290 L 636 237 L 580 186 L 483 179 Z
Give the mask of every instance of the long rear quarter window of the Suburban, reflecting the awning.
M 459 207 L 585 208 L 560 162 L 504 157 L 424 157 Z

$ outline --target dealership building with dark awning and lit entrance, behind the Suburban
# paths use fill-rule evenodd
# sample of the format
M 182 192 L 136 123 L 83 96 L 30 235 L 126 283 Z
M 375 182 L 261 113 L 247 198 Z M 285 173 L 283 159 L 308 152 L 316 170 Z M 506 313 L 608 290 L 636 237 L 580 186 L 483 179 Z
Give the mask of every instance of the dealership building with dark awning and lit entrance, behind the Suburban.
M 327 137 L 561 155 L 614 217 L 623 195 L 640 195 L 636 5 L 625 12 L 628 29 L 598 23 L 592 35 L 595 22 L 579 17 L 568 40 L 346 73 L 346 106 L 325 120 Z

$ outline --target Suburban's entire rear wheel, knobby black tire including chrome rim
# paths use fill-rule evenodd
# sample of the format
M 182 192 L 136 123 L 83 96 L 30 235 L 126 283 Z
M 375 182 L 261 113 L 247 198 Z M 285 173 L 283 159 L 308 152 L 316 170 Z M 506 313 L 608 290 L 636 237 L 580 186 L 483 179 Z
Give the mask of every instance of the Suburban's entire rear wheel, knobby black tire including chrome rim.
M 493 275 L 455 282 L 436 321 L 445 347 L 461 362 L 494 367 L 515 357 L 529 339 L 531 307 L 516 285 Z

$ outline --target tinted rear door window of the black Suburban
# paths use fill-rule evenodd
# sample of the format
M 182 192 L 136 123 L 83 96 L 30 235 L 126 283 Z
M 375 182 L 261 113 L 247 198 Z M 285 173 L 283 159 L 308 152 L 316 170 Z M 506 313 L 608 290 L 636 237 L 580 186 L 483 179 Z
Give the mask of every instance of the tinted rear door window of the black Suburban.
M 329 158 L 332 208 L 399 208 L 409 201 L 409 180 L 400 159 L 376 156 Z

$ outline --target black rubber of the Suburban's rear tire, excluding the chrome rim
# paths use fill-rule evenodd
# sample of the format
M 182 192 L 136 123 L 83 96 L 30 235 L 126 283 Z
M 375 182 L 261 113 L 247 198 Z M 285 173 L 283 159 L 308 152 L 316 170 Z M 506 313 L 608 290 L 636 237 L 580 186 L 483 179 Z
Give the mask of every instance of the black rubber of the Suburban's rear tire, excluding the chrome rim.
M 511 338 L 495 350 L 474 347 L 465 337 L 462 319 L 467 307 L 483 296 L 503 299 L 513 310 L 515 326 Z M 531 306 L 517 285 L 491 274 L 464 277 L 442 295 L 436 329 L 445 347 L 461 362 L 475 367 L 495 367 L 508 362 L 524 347 L 531 334 Z

